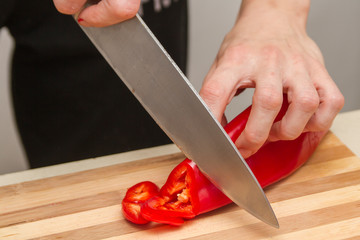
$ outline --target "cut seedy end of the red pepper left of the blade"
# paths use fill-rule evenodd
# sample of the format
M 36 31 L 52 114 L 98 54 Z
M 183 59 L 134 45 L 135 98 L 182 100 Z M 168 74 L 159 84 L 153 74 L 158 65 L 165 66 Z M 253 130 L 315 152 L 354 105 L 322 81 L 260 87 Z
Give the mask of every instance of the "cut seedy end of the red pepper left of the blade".
M 141 215 L 149 221 L 180 225 L 184 219 L 229 203 L 231 200 L 200 172 L 195 162 L 185 159 L 170 173 L 159 195 L 141 205 Z

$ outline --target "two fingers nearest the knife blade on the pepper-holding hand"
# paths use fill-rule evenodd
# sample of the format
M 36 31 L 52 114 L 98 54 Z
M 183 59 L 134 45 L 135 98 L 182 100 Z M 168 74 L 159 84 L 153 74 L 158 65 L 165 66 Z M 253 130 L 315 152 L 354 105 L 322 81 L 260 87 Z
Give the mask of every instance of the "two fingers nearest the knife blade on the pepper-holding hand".
M 247 54 L 243 48 L 230 50 L 234 52 L 224 53 L 212 66 L 200 95 L 220 121 L 226 106 L 239 92 L 239 88 L 255 87 L 248 123 L 235 143 L 244 157 L 248 157 L 266 141 L 281 108 L 282 80 L 278 66 L 283 61 L 283 56 L 278 51 L 267 48 L 260 63 L 255 66 L 255 61 L 249 57 L 254 54 Z

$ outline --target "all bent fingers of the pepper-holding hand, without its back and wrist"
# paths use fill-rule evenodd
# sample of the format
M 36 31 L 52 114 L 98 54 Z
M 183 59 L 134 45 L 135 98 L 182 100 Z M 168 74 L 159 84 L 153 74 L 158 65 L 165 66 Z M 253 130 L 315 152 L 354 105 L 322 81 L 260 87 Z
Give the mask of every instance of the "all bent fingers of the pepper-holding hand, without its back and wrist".
M 306 131 L 329 129 L 344 105 L 342 94 L 320 61 L 283 55 L 271 48 L 264 48 L 256 61 L 246 54 L 239 54 L 242 61 L 234 58 L 236 54 L 230 55 L 217 59 L 200 95 L 224 125 L 225 108 L 238 89 L 255 87 L 248 122 L 235 142 L 245 158 L 266 140 L 293 140 Z M 287 93 L 289 107 L 284 117 L 274 123 L 283 92 Z

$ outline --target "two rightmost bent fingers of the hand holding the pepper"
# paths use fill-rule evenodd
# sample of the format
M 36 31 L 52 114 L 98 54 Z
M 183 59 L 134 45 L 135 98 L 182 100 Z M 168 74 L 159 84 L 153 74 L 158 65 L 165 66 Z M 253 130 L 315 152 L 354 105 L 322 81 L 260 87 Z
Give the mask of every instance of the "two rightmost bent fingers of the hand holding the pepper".
M 303 132 L 326 131 L 343 107 L 344 97 L 325 67 L 313 62 L 307 69 L 308 73 L 292 74 L 302 80 L 290 80 L 289 108 L 283 119 L 274 123 L 269 140 L 292 140 Z

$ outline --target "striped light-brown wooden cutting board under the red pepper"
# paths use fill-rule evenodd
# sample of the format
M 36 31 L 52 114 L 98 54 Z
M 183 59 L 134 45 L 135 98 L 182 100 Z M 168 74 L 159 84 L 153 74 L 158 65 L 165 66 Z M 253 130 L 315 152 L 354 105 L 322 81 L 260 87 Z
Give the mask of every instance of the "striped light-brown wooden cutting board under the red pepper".
M 0 239 L 360 239 L 360 160 L 328 133 L 309 161 L 265 189 L 272 228 L 230 204 L 181 227 L 131 224 L 120 202 L 133 184 L 162 185 L 182 154 L 0 188 Z

